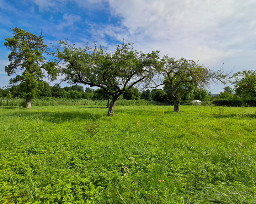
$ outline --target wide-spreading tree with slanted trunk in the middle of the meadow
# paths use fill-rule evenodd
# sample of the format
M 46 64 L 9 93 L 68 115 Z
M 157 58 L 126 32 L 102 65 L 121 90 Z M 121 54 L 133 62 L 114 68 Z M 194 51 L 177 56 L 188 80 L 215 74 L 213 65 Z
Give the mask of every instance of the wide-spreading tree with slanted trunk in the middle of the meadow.
M 65 80 L 99 87 L 112 96 L 109 116 L 113 115 L 119 96 L 135 85 L 151 84 L 161 66 L 158 51 L 144 54 L 134 50 L 132 44 L 117 45 L 114 52 L 107 53 L 96 45 L 93 48 L 86 45 L 82 49 L 66 41 L 59 42 L 56 56 L 64 62 Z

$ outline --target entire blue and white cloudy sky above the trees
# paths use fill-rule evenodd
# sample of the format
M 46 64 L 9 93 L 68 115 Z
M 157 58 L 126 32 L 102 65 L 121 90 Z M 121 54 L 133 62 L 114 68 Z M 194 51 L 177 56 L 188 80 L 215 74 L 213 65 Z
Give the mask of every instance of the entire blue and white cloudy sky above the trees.
M 159 50 L 216 70 L 223 62 L 233 72 L 256 67 L 255 0 L 0 0 L 0 87 L 10 79 L 4 41 L 15 27 L 42 32 L 45 44 L 68 37 L 81 47 L 95 40 L 114 50 L 124 39 L 139 51 Z

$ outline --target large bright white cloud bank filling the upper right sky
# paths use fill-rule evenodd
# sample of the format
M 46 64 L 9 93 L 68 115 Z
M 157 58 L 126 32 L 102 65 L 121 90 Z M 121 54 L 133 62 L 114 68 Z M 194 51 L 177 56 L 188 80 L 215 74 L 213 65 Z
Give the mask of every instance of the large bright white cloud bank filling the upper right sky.
M 110 26 L 97 32 L 117 40 L 124 35 L 143 50 L 211 63 L 239 55 L 249 46 L 248 38 L 255 41 L 253 0 L 109 0 L 109 4 L 126 32 L 116 32 L 117 28 L 106 32 Z

